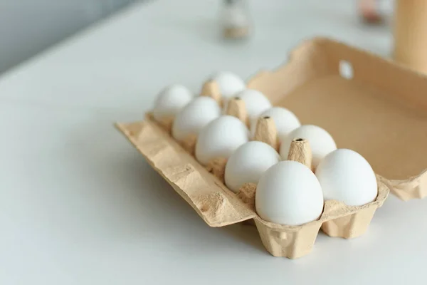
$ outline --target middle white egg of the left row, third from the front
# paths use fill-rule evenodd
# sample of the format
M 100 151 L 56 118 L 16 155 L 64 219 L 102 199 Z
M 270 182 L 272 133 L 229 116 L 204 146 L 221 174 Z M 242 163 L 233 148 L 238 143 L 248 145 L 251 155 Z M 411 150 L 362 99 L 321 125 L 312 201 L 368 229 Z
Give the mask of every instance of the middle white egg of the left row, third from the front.
M 241 120 L 230 115 L 222 115 L 211 121 L 199 133 L 196 142 L 196 159 L 202 165 L 207 165 L 214 158 L 228 158 L 248 140 L 248 128 Z

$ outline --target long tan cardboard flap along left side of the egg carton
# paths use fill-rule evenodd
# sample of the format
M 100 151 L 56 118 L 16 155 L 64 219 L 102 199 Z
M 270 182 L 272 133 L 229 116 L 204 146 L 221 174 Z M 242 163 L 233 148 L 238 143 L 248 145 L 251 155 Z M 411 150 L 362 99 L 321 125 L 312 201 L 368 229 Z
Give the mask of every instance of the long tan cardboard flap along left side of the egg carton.
M 223 227 L 255 217 L 246 203 L 155 123 L 151 114 L 144 122 L 117 124 L 117 128 L 209 226 Z

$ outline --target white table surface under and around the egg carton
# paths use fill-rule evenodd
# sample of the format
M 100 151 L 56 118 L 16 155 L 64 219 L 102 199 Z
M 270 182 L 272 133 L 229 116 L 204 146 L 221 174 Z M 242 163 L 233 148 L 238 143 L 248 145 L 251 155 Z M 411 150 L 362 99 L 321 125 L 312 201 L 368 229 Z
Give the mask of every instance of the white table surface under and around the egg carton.
M 253 1 L 247 43 L 218 37 L 217 1 L 138 4 L 2 76 L 0 284 L 421 284 L 426 199 L 391 195 L 364 237 L 275 258 L 251 227 L 204 224 L 112 126 L 168 83 L 247 77 L 303 38 L 389 53 L 389 28 L 359 24 L 354 1 L 300 2 Z

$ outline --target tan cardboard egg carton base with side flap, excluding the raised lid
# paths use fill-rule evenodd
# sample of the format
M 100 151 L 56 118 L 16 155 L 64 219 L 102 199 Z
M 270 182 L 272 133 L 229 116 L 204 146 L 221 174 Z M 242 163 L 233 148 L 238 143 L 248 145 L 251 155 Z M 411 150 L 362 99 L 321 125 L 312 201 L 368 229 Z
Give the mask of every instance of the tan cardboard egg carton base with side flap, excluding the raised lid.
M 320 219 L 301 226 L 283 226 L 266 222 L 255 212 L 256 185 L 248 183 L 236 194 L 223 184 L 224 160 L 214 160 L 203 167 L 148 113 L 140 123 L 117 124 L 147 161 L 174 190 L 211 227 L 222 227 L 254 219 L 265 248 L 275 257 L 295 259 L 310 253 L 319 229 L 330 237 L 346 239 L 364 234 L 374 212 L 384 203 L 389 188 L 377 177 L 378 195 L 374 202 L 349 207 L 342 202 L 327 200 Z M 268 124 L 267 124 L 268 125 Z M 271 130 L 270 125 L 266 130 Z M 270 138 L 270 133 L 265 136 Z M 265 137 L 260 138 L 264 140 Z M 290 157 L 310 165 L 311 157 L 302 151 L 290 150 Z

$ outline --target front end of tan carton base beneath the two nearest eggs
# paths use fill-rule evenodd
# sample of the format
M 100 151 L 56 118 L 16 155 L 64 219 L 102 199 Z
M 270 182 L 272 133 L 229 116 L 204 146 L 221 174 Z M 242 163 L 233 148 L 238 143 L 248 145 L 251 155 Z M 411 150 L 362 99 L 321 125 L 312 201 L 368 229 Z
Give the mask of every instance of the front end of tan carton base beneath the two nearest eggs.
M 300 226 L 274 224 L 256 216 L 255 224 L 264 247 L 275 257 L 295 259 L 311 252 L 320 228 L 330 237 L 351 239 L 361 236 L 389 194 L 389 188 L 379 177 L 377 183 L 378 196 L 374 202 L 355 207 L 326 200 L 320 219 Z

